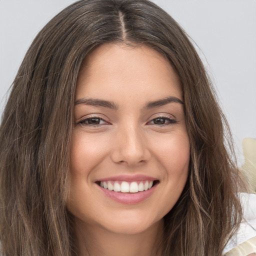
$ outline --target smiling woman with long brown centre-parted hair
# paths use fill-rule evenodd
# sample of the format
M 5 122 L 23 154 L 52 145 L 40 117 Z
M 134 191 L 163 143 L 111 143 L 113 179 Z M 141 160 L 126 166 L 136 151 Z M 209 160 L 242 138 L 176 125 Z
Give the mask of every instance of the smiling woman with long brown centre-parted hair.
M 222 255 L 243 188 L 224 127 L 196 51 L 162 9 L 68 6 L 32 42 L 5 107 L 3 253 Z

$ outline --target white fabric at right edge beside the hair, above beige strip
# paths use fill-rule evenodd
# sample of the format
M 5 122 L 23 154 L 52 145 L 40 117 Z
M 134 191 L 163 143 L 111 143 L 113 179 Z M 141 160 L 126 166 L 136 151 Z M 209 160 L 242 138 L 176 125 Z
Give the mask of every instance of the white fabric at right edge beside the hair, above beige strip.
M 240 193 L 240 199 L 243 207 L 243 220 L 237 232 L 228 241 L 223 253 L 228 252 L 238 244 L 241 245 L 249 239 L 250 242 L 253 241 L 254 243 L 254 239 L 256 239 L 256 194 Z M 253 249 L 256 249 L 256 243 Z M 252 252 L 256 252 L 256 250 Z

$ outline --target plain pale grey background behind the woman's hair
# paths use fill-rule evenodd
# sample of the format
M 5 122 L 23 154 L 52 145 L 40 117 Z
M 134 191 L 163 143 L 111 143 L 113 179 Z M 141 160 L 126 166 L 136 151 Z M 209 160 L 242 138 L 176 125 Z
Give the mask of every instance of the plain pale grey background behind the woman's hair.
M 0 0 L 0 114 L 22 58 L 46 22 L 75 0 Z M 256 137 L 256 0 L 154 0 L 186 30 L 216 86 L 243 163 Z

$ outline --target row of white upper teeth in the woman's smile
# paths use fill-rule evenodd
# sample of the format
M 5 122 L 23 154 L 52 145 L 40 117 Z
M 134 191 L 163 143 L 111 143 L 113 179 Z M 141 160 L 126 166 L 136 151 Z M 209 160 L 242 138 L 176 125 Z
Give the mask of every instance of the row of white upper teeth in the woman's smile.
M 100 186 L 108 190 L 113 190 L 115 192 L 123 193 L 136 193 L 138 191 L 144 191 L 151 188 L 153 185 L 152 180 L 143 180 L 143 181 L 100 181 Z

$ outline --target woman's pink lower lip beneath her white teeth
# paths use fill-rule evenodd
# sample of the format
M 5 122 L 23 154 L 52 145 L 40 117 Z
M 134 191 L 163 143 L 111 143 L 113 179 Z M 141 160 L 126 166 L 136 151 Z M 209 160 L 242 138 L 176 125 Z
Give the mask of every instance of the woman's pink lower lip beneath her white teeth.
M 146 198 L 148 198 L 153 191 L 155 190 L 157 184 L 152 186 L 151 188 L 137 192 L 137 193 L 122 193 L 122 192 L 115 192 L 113 190 L 108 190 L 106 188 L 103 188 L 99 185 L 97 185 L 99 189 L 108 197 L 111 199 L 120 202 L 120 203 L 125 203 L 125 204 L 136 204 L 139 202 L 144 201 Z

